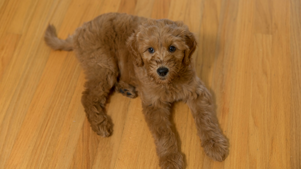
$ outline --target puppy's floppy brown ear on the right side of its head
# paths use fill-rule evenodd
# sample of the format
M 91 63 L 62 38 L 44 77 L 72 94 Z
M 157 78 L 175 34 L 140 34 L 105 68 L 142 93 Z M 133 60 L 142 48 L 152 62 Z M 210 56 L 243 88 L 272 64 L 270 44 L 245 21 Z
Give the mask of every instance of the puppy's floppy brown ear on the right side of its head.
M 197 47 L 197 42 L 191 32 L 185 36 L 185 43 L 188 48 L 184 51 L 183 65 L 188 66 L 191 62 L 191 56 Z

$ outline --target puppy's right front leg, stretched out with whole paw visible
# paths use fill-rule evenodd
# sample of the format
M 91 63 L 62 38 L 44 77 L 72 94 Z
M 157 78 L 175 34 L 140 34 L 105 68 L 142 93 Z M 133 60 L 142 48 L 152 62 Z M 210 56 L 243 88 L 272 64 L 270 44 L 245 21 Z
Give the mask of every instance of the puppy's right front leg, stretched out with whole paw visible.
M 202 82 L 199 81 L 197 86 L 197 97 L 188 99 L 187 104 L 206 155 L 215 161 L 223 161 L 228 156 L 228 141 L 219 129 L 211 94 Z

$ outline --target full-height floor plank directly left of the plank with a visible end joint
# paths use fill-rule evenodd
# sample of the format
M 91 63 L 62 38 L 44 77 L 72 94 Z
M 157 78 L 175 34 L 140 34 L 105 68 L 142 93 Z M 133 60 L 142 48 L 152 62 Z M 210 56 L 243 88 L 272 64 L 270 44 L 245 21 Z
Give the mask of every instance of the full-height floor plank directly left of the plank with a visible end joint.
M 235 48 L 236 52 L 234 53 L 234 60 L 236 64 L 236 72 L 234 72 L 234 77 L 232 84 L 235 86 L 233 91 L 233 109 L 232 113 L 235 118 L 240 119 L 231 126 L 231 135 L 229 136 L 232 139 L 232 150 L 234 149 L 238 152 L 234 158 L 234 167 L 245 168 L 245 167 L 254 167 L 253 157 L 248 157 L 249 148 L 247 144 L 242 144 L 249 140 L 251 133 L 249 128 L 251 124 L 247 123 L 250 121 L 250 108 L 251 108 L 251 97 L 253 91 L 251 78 L 252 75 L 251 66 L 249 64 L 250 60 L 256 59 L 253 58 L 252 50 L 249 46 L 252 46 L 253 41 L 253 10 L 247 10 L 248 8 L 253 8 L 253 1 L 242 1 L 238 6 L 237 14 L 237 29 L 236 29 L 236 41 Z M 244 56 L 244 57 L 240 57 Z M 233 121 L 232 121 L 233 123 Z M 233 154 L 232 154 L 233 155 Z

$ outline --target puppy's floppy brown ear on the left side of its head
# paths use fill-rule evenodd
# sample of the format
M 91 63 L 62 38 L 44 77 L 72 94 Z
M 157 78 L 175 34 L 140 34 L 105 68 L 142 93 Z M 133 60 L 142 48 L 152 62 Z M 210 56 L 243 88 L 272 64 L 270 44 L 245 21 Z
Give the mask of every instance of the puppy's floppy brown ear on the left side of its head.
M 140 52 L 138 51 L 138 44 L 137 44 L 137 32 L 133 33 L 129 39 L 126 41 L 127 48 L 134 58 L 136 66 L 143 66 L 143 60 L 141 57 Z

